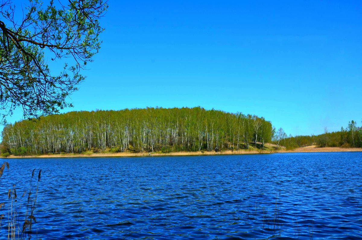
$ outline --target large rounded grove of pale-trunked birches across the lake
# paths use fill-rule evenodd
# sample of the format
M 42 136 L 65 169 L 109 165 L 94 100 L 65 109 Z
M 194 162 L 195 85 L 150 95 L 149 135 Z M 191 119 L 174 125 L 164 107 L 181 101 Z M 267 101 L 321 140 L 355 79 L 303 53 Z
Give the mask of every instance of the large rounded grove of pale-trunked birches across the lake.
M 273 133 L 263 117 L 201 107 L 82 111 L 6 125 L 2 152 L 237 150 L 248 149 L 249 142 L 264 148 Z

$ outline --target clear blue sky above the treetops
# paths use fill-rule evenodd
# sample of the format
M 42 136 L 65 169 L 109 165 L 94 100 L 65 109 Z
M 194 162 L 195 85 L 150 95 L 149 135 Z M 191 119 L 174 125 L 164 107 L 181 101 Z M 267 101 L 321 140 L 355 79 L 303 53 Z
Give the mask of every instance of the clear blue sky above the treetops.
M 361 1 L 109 0 L 101 22 L 63 112 L 201 106 L 293 136 L 361 126 Z

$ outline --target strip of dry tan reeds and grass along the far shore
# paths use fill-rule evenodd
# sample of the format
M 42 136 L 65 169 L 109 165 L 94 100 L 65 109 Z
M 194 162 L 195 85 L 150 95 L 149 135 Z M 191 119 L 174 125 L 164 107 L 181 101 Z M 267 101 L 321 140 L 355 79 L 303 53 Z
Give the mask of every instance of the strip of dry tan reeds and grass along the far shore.
M 240 150 L 225 150 L 222 152 L 215 151 L 198 151 L 198 152 L 119 152 L 119 153 L 61 153 L 61 154 L 43 154 L 43 155 L 28 155 L 28 156 L 14 156 L 0 158 L 62 158 L 62 157 L 147 157 L 147 156 L 207 156 L 207 155 L 244 155 L 244 154 L 272 154 L 272 153 L 321 153 L 321 152 L 362 152 L 362 148 L 340 148 L 340 147 L 325 147 L 317 148 L 315 146 L 308 146 L 304 148 L 296 148 L 294 150 L 262 150 L 262 149 L 240 149 Z

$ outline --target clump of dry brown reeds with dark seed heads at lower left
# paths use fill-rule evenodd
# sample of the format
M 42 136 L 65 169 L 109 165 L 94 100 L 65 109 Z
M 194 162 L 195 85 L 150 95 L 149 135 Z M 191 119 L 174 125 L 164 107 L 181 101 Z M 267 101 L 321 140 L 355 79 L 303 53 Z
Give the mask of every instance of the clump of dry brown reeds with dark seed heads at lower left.
M 0 167 L 0 178 L 3 175 L 5 166 L 9 169 L 9 164 L 7 162 L 4 162 L 3 165 Z M 20 201 L 18 201 L 18 197 L 16 194 L 16 188 L 15 185 L 13 185 L 12 189 L 9 189 L 8 191 L 8 216 L 7 216 L 7 223 L 8 223 L 8 240 L 19 240 L 19 239 L 30 239 L 31 233 L 32 233 L 32 226 L 33 223 L 36 223 L 36 219 L 34 217 L 34 210 L 35 210 L 35 203 L 37 201 L 38 196 L 38 187 L 41 177 L 41 171 L 39 170 L 38 174 L 38 182 L 35 190 L 35 194 L 32 195 L 32 181 L 34 177 L 34 171 L 31 173 L 30 178 L 30 187 L 29 192 L 25 191 Z M 26 205 L 22 205 L 22 200 L 24 196 L 28 195 L 28 199 L 26 200 Z M 5 203 L 0 203 L 0 211 L 1 208 L 5 206 Z M 3 231 L 3 220 L 5 219 L 5 215 L 0 215 L 0 229 Z M 24 222 L 23 222 L 24 219 Z M 3 232 L 0 232 L 0 236 L 4 236 Z

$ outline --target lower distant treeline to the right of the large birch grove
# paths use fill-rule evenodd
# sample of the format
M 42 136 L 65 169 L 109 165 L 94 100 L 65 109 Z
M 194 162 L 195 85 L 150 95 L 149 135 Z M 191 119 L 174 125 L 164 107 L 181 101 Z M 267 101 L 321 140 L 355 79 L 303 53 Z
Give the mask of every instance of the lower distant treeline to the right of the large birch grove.
M 350 121 L 346 128 L 341 127 L 341 131 L 328 132 L 327 128 L 325 128 L 324 133 L 317 136 L 288 137 L 283 129 L 280 128 L 273 138 L 275 144 L 278 144 L 278 141 L 276 141 L 278 135 L 283 136 L 279 138 L 280 146 L 285 146 L 287 149 L 311 145 L 319 147 L 362 148 L 362 127 L 358 127 L 354 120 Z

